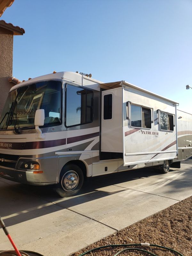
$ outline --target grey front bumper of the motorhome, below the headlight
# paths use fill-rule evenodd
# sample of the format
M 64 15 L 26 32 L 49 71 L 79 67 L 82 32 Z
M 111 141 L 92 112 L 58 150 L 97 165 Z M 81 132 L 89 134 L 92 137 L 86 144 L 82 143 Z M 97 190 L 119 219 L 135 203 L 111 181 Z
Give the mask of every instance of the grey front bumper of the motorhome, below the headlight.
M 32 170 L 16 170 L 0 166 L 0 177 L 6 180 L 36 186 L 51 185 L 56 183 L 55 181 L 49 182 L 46 180 L 44 173 L 34 174 L 33 172 L 34 171 Z

